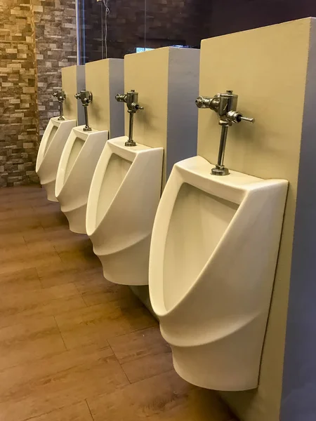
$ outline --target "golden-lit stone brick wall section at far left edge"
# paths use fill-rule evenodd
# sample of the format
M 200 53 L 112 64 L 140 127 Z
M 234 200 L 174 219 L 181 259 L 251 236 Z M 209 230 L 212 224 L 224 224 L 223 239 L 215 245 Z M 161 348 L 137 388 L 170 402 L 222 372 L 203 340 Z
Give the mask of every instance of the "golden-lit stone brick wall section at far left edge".
M 34 21 L 27 0 L 0 0 L 0 187 L 37 180 Z

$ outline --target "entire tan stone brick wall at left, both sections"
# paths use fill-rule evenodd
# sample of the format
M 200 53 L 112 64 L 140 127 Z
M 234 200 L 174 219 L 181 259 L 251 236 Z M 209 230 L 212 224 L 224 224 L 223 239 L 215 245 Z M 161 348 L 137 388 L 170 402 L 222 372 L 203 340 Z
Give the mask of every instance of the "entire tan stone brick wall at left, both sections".
M 61 67 L 77 63 L 72 0 L 0 0 L 0 187 L 38 182 L 39 135 L 58 112 Z

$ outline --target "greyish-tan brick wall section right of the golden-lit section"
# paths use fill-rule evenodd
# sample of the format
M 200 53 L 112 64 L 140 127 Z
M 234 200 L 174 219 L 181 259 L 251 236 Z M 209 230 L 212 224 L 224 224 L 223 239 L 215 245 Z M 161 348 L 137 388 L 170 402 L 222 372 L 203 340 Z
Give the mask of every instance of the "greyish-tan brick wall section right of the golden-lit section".
M 58 114 L 58 101 L 52 93 L 61 88 L 62 67 L 77 65 L 76 4 L 73 0 L 32 1 L 41 136 L 49 119 Z

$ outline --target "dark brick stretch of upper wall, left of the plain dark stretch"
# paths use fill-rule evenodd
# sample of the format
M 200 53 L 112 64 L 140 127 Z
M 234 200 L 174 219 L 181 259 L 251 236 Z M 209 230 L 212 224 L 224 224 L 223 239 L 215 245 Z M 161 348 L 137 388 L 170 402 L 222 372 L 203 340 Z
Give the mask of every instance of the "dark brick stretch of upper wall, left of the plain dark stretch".
M 146 46 L 187 44 L 199 48 L 200 40 L 208 36 L 210 6 L 202 0 L 147 1 Z M 125 54 L 134 53 L 136 47 L 145 44 L 145 1 L 110 0 L 109 8 L 108 57 L 124 58 Z M 84 20 L 81 25 L 81 44 L 85 46 L 81 57 L 83 63 L 103 58 L 102 11 L 105 11 L 102 1 L 79 0 L 79 14 Z M 105 33 L 105 19 L 103 29 Z

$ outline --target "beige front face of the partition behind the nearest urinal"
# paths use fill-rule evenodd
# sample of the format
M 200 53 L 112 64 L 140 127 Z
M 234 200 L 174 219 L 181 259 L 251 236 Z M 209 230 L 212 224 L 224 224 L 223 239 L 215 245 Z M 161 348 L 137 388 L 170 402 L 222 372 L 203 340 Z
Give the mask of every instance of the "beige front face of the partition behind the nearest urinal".
M 316 80 L 308 77 L 315 35 L 315 20 L 307 18 L 202 41 L 200 94 L 232 89 L 239 111 L 256 118 L 229 129 L 225 166 L 290 182 L 259 387 L 223 394 L 242 421 L 279 420 L 300 150 L 316 138 L 316 119 L 307 117 L 316 107 L 316 95 L 308 94 Z M 198 154 L 216 163 L 219 138 L 216 113 L 200 110 Z

